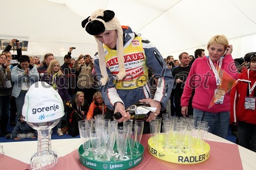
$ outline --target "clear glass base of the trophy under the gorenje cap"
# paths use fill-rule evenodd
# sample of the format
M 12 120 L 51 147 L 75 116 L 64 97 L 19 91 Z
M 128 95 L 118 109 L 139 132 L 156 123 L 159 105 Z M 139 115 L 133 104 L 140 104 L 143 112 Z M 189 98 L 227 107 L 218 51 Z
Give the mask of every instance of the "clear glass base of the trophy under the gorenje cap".
M 58 161 L 57 153 L 54 151 L 47 154 L 34 153 L 30 159 L 32 169 L 47 169 L 54 166 Z

